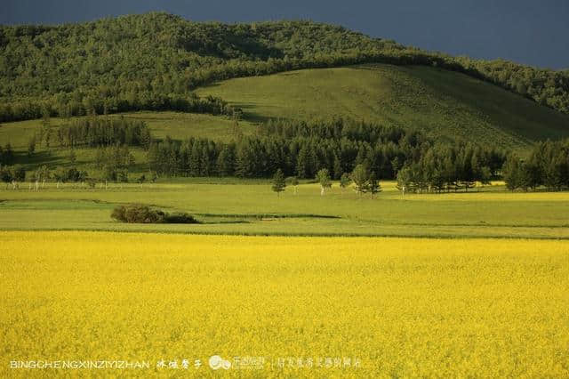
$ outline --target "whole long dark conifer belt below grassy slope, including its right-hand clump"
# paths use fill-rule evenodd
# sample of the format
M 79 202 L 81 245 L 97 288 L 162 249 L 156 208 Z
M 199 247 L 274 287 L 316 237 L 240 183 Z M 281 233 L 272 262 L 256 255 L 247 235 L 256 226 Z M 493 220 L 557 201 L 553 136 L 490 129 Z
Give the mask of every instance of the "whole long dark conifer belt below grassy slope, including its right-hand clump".
M 402 128 L 352 124 L 343 120 L 290 124 L 260 130 L 261 135 L 236 142 L 207 139 L 155 142 L 148 149 L 149 168 L 168 176 L 272 177 L 277 170 L 285 176 L 314 178 L 326 169 L 332 179 L 365 166 L 378 179 L 394 179 L 402 167 L 415 173 L 409 190 L 439 190 L 450 186 L 471 187 L 482 174 L 499 174 L 505 153 L 469 144 L 460 148 L 434 144 L 423 134 Z M 272 132 L 271 132 L 272 131 Z M 326 138 L 325 138 L 326 137 Z M 439 176 L 445 172 L 445 181 Z M 448 179 L 448 180 L 446 180 Z M 461 184 L 458 184 L 458 183 Z M 429 187 L 429 183 L 430 185 Z

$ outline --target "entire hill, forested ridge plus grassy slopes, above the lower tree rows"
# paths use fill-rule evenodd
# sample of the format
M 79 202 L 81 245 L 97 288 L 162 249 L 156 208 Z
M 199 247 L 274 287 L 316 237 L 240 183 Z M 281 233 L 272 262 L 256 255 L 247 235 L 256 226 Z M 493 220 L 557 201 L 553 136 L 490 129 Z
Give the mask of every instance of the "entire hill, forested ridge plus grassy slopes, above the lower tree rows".
M 569 136 L 566 71 L 423 52 L 310 21 L 226 25 L 148 13 L 0 26 L 0 72 L 0 145 L 10 142 L 27 168 L 68 164 L 68 150 L 39 143 L 27 156 L 38 117 L 58 126 L 93 111 L 145 120 L 157 139 L 179 141 L 231 141 L 270 118 L 330 117 L 520 152 Z M 135 171 L 146 170 L 146 154 L 132 150 Z M 83 166 L 94 157 L 84 147 L 76 154 Z

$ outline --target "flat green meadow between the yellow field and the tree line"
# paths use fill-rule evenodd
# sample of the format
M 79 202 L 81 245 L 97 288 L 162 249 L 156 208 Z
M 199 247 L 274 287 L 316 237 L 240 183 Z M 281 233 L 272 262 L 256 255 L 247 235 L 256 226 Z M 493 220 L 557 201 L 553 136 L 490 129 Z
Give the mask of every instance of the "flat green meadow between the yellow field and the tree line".
M 375 198 L 342 192 L 320 196 L 304 183 L 277 197 L 268 181 L 212 179 L 80 189 L 53 183 L 39 191 L 0 190 L 0 230 L 146 230 L 181 233 L 316 236 L 569 238 L 569 193 L 482 192 L 406 195 L 383 182 Z M 117 204 L 143 203 L 195 214 L 202 223 L 125 224 Z

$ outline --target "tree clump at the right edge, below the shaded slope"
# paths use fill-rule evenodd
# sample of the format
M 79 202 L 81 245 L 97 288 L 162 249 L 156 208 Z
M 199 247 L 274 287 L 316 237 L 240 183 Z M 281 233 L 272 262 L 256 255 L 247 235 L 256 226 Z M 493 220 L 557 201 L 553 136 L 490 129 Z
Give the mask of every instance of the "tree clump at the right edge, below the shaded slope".
M 502 174 L 510 190 L 569 189 L 569 139 L 538 143 L 527 159 L 510 154 Z

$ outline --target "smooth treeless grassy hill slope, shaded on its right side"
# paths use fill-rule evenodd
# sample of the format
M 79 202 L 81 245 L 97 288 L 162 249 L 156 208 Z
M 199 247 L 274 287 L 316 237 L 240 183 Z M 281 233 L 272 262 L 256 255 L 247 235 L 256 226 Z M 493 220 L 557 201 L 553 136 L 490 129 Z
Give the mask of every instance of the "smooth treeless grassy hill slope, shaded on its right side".
M 569 136 L 569 116 L 443 69 L 384 64 L 306 69 L 220 82 L 196 91 L 252 120 L 347 116 L 520 148 Z

